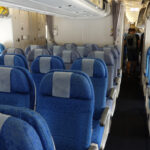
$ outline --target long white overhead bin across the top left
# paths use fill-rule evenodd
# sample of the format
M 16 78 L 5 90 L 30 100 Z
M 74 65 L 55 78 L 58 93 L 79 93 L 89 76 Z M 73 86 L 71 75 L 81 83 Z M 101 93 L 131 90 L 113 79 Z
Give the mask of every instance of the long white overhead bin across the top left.
M 104 17 L 111 10 L 104 0 L 1 0 L 0 5 L 71 18 Z

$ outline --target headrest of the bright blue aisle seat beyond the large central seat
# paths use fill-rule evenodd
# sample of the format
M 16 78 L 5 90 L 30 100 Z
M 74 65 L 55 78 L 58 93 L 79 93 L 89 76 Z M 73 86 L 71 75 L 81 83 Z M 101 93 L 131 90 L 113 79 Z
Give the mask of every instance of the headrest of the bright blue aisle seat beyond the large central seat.
M 107 77 L 107 67 L 105 63 L 100 59 L 79 58 L 73 65 L 72 70 L 81 70 L 94 78 Z

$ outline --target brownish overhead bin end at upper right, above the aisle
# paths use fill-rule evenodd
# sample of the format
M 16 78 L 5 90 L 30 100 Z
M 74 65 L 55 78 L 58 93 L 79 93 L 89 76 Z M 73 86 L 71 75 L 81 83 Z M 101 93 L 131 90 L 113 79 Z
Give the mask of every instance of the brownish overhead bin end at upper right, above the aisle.
M 139 13 L 138 21 L 137 21 L 137 27 L 143 28 L 145 23 L 144 13 L 146 8 L 142 8 Z

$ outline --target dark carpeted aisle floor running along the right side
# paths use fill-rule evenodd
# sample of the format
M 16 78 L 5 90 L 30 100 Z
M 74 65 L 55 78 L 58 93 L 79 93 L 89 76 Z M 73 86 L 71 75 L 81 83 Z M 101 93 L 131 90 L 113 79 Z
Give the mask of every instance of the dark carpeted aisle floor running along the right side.
M 105 150 L 150 150 L 144 105 L 139 79 L 124 77 Z

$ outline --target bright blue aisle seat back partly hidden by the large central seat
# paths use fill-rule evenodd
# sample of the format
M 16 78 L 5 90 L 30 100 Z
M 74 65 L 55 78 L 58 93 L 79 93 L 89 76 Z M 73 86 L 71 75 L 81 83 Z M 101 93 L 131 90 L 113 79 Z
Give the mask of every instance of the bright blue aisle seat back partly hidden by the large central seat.
M 106 107 L 107 66 L 100 59 L 80 58 L 73 63 L 71 69 L 83 71 L 91 78 L 95 93 L 94 119 L 99 120 L 103 109 Z

